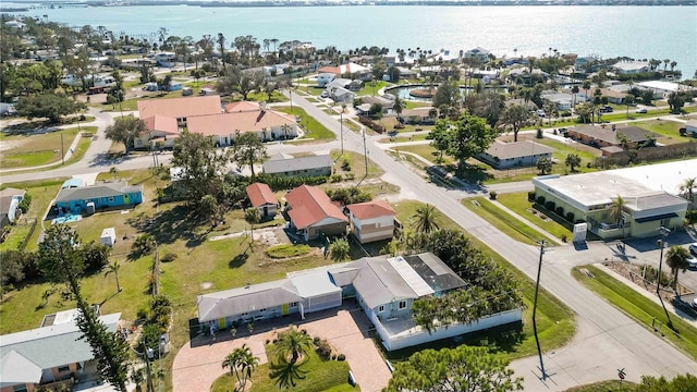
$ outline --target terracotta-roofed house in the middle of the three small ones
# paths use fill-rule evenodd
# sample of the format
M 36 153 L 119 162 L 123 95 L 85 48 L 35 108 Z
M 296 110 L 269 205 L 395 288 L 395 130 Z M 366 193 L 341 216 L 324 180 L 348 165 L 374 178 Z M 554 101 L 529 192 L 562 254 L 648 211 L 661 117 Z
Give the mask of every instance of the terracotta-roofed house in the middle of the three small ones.
M 285 195 L 291 226 L 305 241 L 321 235 L 346 234 L 348 219 L 327 194 L 315 186 L 301 185 Z

